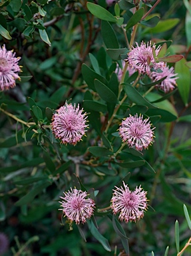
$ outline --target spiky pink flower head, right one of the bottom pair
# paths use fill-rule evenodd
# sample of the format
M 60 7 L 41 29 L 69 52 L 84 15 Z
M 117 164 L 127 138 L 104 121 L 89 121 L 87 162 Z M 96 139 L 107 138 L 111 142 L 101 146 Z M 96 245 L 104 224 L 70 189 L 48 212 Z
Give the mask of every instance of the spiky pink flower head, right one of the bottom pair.
M 144 216 L 144 211 L 147 208 L 146 191 L 136 187 L 134 191 L 130 191 L 128 185 L 122 181 L 123 187 L 115 187 L 113 189 L 111 199 L 111 208 L 114 215 L 120 213 L 118 219 L 128 223 L 128 221 L 139 220 Z

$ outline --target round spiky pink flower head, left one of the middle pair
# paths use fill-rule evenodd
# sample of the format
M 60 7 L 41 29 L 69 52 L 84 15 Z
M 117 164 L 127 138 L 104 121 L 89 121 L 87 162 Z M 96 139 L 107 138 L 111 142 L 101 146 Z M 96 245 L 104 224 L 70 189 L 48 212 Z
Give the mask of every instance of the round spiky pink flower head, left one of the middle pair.
M 55 137 L 61 139 L 61 143 L 76 145 L 87 131 L 86 115 L 87 113 L 83 113 L 79 105 L 76 107 L 65 103 L 53 115 L 51 126 Z

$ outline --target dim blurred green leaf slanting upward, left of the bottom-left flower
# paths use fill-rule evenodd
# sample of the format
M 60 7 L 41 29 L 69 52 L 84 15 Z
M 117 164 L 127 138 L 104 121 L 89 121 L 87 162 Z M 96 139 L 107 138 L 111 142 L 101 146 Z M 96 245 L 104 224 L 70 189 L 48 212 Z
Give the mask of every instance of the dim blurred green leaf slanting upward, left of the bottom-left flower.
M 27 193 L 27 195 L 21 197 L 21 199 L 19 199 L 19 201 L 15 203 L 15 206 L 28 205 L 29 203 L 31 203 L 31 201 L 33 201 L 33 199 L 35 199 L 35 197 L 39 193 L 41 193 L 41 191 L 43 191 L 43 189 L 49 187 L 49 185 L 51 185 L 50 181 L 46 181 L 36 185 L 35 187 L 33 187 L 33 189 L 31 189 L 31 191 L 29 191 L 29 193 Z

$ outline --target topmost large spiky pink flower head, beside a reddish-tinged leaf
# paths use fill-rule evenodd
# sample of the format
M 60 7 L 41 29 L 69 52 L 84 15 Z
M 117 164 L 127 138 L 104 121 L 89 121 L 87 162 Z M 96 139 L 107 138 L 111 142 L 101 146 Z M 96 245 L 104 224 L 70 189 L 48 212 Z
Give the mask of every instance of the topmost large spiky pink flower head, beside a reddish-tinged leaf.
M 136 47 L 132 46 L 132 49 L 130 49 L 128 53 L 128 63 L 130 67 L 136 69 L 140 74 L 150 75 L 152 68 L 158 69 L 164 65 L 162 61 L 156 63 L 152 53 L 152 49 L 154 49 L 157 56 L 160 48 L 160 45 L 157 48 L 155 44 L 151 46 L 151 41 L 147 44 L 142 41 L 140 46 L 136 43 Z

